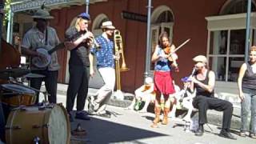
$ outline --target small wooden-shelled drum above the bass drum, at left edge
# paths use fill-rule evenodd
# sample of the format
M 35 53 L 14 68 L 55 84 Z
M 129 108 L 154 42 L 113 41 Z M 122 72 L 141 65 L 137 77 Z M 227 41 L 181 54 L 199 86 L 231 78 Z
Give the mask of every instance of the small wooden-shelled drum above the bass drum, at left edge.
M 30 106 L 36 101 L 36 92 L 29 87 L 17 84 L 2 84 L 2 102 L 10 106 Z

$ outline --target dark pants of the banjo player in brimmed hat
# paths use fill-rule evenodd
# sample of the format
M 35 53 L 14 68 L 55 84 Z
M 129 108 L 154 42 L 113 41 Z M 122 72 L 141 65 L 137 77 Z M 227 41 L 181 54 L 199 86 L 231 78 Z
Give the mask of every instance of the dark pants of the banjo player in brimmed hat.
M 42 81 L 46 84 L 46 90 L 48 92 L 48 101 L 50 103 L 57 102 L 57 82 L 58 82 L 58 70 L 32 70 L 33 74 L 42 74 L 44 78 L 30 78 L 30 86 L 34 89 L 40 90 Z M 37 93 L 36 103 L 39 101 L 39 93 Z

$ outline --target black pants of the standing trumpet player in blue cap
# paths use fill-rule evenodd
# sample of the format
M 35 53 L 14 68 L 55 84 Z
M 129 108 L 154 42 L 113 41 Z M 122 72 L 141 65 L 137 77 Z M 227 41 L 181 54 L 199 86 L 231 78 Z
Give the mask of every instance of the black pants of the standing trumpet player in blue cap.
M 77 97 L 77 110 L 83 110 L 88 94 L 89 73 L 84 66 L 70 65 L 70 82 L 66 93 L 66 110 L 73 110 L 74 98 Z

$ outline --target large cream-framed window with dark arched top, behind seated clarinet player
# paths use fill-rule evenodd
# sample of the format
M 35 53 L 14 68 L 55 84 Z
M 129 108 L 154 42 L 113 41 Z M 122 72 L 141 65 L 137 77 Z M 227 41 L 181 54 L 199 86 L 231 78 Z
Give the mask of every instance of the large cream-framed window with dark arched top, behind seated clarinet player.
M 247 3 L 232 0 L 224 5 L 221 16 L 207 17 L 209 66 L 216 74 L 216 80 L 237 82 L 240 66 L 245 59 Z M 255 6 L 252 6 L 255 10 Z M 243 13 L 243 14 L 238 14 Z M 251 15 L 250 45 L 256 44 L 256 14 Z

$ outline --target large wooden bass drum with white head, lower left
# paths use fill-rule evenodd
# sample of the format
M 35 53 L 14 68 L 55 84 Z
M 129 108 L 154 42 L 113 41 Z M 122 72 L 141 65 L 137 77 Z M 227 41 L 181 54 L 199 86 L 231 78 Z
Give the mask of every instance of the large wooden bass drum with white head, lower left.
M 58 104 L 25 106 L 10 112 L 6 123 L 6 143 L 70 143 L 70 121 Z

